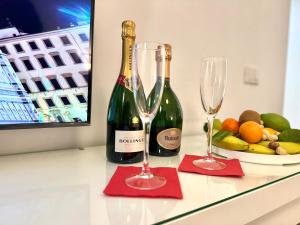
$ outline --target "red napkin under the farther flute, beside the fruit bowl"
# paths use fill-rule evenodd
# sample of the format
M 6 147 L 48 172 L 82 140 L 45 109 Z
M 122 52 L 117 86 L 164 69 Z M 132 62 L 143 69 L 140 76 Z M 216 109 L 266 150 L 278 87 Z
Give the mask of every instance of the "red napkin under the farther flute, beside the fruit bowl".
M 193 161 L 197 159 L 202 159 L 203 156 L 196 155 L 185 155 L 183 160 L 181 161 L 178 170 L 183 172 L 190 173 L 200 173 L 204 175 L 211 176 L 244 176 L 243 169 L 241 167 L 240 161 L 238 159 L 220 159 L 217 158 L 218 161 L 225 163 L 227 166 L 222 170 L 207 170 L 202 169 L 197 166 L 194 166 Z M 215 158 L 216 159 L 216 158 Z

